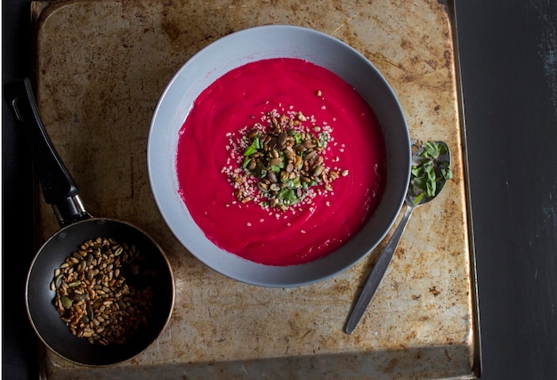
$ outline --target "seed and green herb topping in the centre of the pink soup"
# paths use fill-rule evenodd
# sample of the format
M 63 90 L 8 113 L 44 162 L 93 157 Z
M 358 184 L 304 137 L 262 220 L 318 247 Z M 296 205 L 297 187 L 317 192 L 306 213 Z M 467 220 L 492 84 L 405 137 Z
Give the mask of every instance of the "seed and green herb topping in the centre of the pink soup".
M 320 92 L 318 92 L 320 96 Z M 324 153 L 332 140 L 328 125 L 316 125 L 313 117 L 301 111 L 280 113 L 273 110 L 261 122 L 229 133 L 229 176 L 234 195 L 241 203 L 254 201 L 263 208 L 282 211 L 300 203 L 311 203 L 317 194 L 333 191 L 332 183 L 346 170 L 331 169 Z M 239 150 L 239 152 L 238 152 Z M 239 167 L 234 168 L 230 161 Z

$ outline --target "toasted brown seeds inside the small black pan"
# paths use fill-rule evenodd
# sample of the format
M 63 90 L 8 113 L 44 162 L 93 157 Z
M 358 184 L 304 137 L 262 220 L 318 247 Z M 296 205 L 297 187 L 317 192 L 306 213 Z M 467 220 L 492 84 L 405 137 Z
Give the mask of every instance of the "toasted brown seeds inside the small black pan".
M 155 274 L 142 271 L 142 259 L 135 246 L 106 238 L 87 240 L 66 258 L 54 271 L 51 289 L 71 334 L 91 344 L 125 344 L 147 326 L 153 292 L 130 281 Z

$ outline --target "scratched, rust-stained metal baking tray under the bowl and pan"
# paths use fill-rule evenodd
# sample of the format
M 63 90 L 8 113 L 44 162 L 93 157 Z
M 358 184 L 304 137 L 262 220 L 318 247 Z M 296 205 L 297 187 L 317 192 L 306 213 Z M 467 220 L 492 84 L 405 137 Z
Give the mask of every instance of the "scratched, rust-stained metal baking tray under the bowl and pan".
M 132 222 L 176 278 L 170 324 L 133 360 L 82 368 L 46 352 L 52 379 L 472 378 L 477 375 L 463 131 L 448 9 L 436 0 L 37 2 L 36 89 L 44 125 L 95 216 Z M 383 244 L 348 271 L 297 288 L 254 287 L 199 263 L 157 211 L 149 123 L 174 72 L 238 29 L 315 28 L 365 54 L 392 85 L 412 139 L 444 140 L 455 178 L 416 209 L 356 331 L 343 325 Z M 38 241 L 58 224 L 39 202 Z

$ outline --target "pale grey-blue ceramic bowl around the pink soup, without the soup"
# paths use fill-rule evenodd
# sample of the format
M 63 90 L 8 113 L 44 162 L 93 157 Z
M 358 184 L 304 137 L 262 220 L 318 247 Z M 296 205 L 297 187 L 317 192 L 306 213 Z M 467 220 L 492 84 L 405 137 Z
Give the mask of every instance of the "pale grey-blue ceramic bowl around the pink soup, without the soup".
M 223 74 L 251 61 L 300 58 L 333 71 L 354 86 L 375 111 L 387 152 L 383 198 L 359 233 L 343 247 L 311 263 L 268 266 L 223 251 L 192 220 L 178 193 L 178 132 L 193 102 Z M 310 28 L 269 25 L 247 28 L 209 44 L 187 61 L 166 86 L 149 131 L 149 181 L 157 206 L 175 237 L 192 255 L 231 279 L 263 287 L 296 287 L 327 279 L 372 251 L 391 229 L 404 201 L 411 143 L 400 103 L 373 64 L 350 45 Z M 371 170 L 371 168 L 370 168 Z

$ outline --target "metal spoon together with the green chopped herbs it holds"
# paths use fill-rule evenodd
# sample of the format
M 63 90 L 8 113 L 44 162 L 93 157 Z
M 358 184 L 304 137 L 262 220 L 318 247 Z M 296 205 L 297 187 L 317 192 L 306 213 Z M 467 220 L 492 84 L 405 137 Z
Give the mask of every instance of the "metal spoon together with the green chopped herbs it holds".
M 424 181 L 424 176 L 427 174 L 437 175 L 431 181 Z M 391 263 L 392 255 L 399 247 L 400 238 L 414 209 L 437 197 L 451 177 L 450 150 L 444 141 L 428 141 L 412 155 L 412 175 L 405 198 L 406 210 L 396 230 L 392 233 L 391 239 L 379 255 L 373 271 L 371 271 L 364 288 L 359 294 L 358 301 L 352 308 L 344 327 L 346 334 L 351 334 L 358 326 L 359 319 L 361 319 L 367 305 L 375 295 L 375 291 L 379 287 L 389 263 Z

